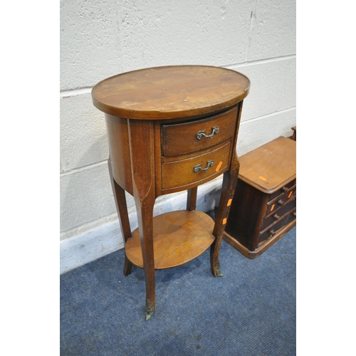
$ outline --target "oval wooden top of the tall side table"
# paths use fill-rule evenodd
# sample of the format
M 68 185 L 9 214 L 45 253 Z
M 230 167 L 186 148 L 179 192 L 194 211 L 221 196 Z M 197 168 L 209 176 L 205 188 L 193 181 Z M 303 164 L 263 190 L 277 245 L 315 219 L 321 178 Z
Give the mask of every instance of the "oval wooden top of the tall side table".
M 134 70 L 102 80 L 93 104 L 110 115 L 141 120 L 202 115 L 246 98 L 250 80 L 211 66 L 166 66 Z

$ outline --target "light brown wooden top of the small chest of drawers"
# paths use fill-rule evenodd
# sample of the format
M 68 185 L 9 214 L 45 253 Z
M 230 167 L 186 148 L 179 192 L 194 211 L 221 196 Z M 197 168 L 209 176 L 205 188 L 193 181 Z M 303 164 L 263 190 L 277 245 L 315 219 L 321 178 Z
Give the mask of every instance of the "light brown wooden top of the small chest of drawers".
M 296 177 L 296 142 L 278 137 L 239 160 L 239 179 L 262 192 L 274 192 Z

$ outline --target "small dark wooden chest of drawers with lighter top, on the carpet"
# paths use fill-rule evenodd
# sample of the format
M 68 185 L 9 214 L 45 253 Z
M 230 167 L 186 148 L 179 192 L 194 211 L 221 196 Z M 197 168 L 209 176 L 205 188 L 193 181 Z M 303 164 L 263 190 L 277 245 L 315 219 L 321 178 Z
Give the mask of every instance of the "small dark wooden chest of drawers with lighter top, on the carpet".
M 296 224 L 295 140 L 278 137 L 239 158 L 224 240 L 256 258 Z

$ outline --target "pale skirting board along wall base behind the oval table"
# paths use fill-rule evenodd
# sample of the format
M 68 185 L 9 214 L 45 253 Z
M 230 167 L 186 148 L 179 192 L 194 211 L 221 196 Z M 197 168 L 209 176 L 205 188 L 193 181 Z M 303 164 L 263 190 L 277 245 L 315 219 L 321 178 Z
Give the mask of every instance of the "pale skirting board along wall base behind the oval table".
M 198 187 L 197 210 L 206 212 L 219 204 L 221 183 L 222 176 Z M 154 216 L 168 211 L 183 210 L 187 207 L 187 191 L 163 197 L 164 199 L 157 199 Z M 136 213 L 131 214 L 129 218 L 133 231 L 137 228 Z M 60 273 L 71 271 L 123 247 L 118 220 L 110 221 L 95 229 L 62 240 Z

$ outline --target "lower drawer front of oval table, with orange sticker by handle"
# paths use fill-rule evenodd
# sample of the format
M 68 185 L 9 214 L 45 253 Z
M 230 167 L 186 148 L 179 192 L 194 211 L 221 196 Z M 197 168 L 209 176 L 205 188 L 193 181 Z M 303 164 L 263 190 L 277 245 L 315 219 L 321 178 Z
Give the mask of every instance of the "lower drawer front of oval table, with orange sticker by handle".
M 217 177 L 230 164 L 231 142 L 216 150 L 162 164 L 162 189 L 184 187 Z

